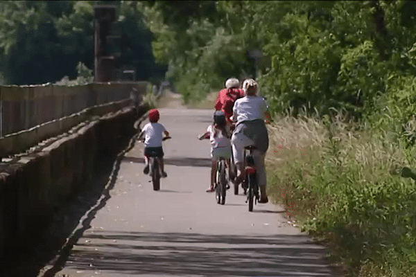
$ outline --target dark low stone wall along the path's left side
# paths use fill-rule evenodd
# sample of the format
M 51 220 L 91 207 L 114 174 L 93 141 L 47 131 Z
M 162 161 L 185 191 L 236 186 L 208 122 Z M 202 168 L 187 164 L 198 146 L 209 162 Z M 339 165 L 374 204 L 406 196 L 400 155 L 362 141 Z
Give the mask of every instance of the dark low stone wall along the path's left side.
M 31 241 L 45 233 L 54 211 L 63 201 L 90 189 L 94 175 L 135 134 L 135 120 L 146 110 L 140 106 L 137 114 L 126 107 L 0 163 L 1 260 L 18 261 L 23 253 L 31 253 Z

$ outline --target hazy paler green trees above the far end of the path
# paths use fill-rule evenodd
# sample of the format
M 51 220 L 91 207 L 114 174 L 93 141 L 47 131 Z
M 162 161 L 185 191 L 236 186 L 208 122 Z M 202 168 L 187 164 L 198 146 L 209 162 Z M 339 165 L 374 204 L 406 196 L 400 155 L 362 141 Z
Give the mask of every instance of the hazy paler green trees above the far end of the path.
M 243 5 L 239 1 L 219 1 L 215 6 L 212 1 L 195 1 L 187 7 L 188 3 L 140 3 L 146 24 L 155 35 L 155 57 L 168 64 L 166 78 L 183 94 L 185 102 L 201 99 L 223 87 L 227 78 L 245 76 L 253 69 L 246 55 L 245 34 L 237 33 L 239 25 L 244 26 L 243 17 L 238 16 L 246 12 Z M 227 14 L 227 9 L 238 13 Z M 184 17 L 189 21 L 175 20 L 183 10 L 189 14 Z

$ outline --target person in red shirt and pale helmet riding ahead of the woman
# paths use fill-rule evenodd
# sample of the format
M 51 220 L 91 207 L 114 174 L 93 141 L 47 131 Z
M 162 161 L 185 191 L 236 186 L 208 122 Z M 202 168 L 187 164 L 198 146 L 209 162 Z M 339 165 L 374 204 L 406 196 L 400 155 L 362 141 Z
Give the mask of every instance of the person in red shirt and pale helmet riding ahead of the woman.
M 225 82 L 225 89 L 221 89 L 218 93 L 215 109 L 217 111 L 223 111 L 227 118 L 227 122 L 232 123 L 230 118 L 233 114 L 232 108 L 234 107 L 234 102 L 244 96 L 245 93 L 243 89 L 240 89 L 239 80 L 236 78 L 229 78 L 227 82 Z

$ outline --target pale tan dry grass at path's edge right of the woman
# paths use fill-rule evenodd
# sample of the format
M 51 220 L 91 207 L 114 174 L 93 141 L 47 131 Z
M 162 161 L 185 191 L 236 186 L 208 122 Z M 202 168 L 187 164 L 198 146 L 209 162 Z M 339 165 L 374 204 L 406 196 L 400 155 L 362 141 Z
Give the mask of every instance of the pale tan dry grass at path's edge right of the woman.
M 270 145 L 266 154 L 268 194 L 275 203 L 284 204 L 288 214 L 302 217 L 308 213 L 313 200 L 298 202 L 293 191 L 297 178 L 296 167 L 303 163 L 304 177 L 308 177 L 320 148 L 327 137 L 322 123 L 314 118 L 284 116 L 268 125 Z

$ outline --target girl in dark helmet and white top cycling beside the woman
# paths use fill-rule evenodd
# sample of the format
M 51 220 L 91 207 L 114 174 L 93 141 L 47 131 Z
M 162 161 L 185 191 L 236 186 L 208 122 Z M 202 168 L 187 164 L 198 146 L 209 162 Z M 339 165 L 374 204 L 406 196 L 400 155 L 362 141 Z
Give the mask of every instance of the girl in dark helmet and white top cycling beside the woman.
M 198 136 L 198 139 L 209 139 L 211 143 L 211 184 L 207 189 L 207 193 L 211 193 L 215 191 L 217 159 L 225 158 L 229 168 L 229 158 L 232 154 L 231 132 L 223 111 L 214 112 L 214 123 L 209 125 L 207 132 Z M 227 186 L 227 188 L 229 187 Z

